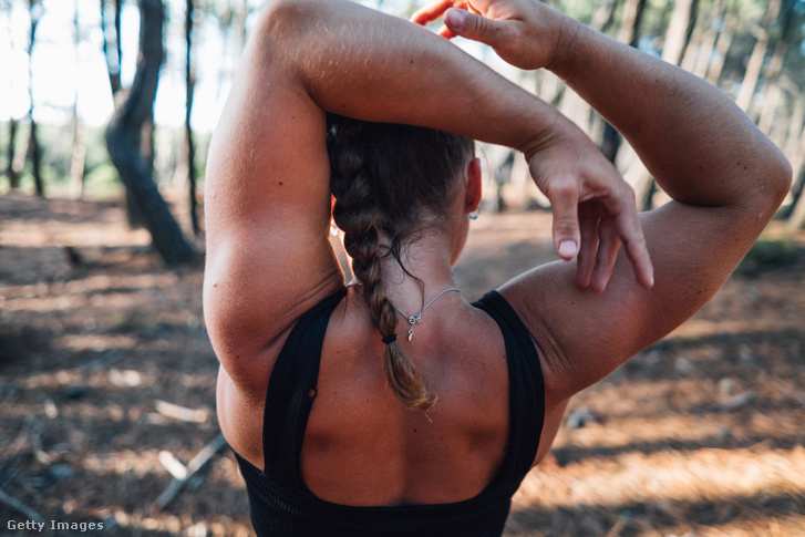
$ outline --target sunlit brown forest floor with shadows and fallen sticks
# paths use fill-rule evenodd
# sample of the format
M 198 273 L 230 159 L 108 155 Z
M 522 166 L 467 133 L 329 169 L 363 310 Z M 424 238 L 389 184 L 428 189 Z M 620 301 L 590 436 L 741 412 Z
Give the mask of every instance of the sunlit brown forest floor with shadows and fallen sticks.
M 473 227 L 468 300 L 554 259 L 545 213 Z M 148 244 L 115 203 L 0 196 L 0 535 L 251 535 L 226 447 L 159 505 L 219 434 L 217 362 L 200 256 Z M 572 400 L 506 536 L 805 536 L 805 261 L 753 272 Z

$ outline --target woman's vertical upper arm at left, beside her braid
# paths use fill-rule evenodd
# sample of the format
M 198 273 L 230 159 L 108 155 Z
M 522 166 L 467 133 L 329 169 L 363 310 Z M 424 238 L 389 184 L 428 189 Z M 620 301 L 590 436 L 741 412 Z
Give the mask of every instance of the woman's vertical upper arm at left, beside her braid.
M 254 358 L 342 276 L 329 237 L 324 113 L 260 35 L 209 151 L 204 304 L 226 366 Z M 241 363 L 241 362 L 237 362 Z

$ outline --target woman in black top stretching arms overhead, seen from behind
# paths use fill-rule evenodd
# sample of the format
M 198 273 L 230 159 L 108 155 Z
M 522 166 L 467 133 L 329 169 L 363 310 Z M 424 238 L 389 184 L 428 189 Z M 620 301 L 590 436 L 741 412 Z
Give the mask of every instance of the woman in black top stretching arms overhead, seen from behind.
M 443 35 L 565 79 L 673 200 L 638 216 L 578 128 L 425 29 L 268 4 L 210 149 L 204 287 L 260 535 L 499 535 L 568 399 L 701 308 L 788 188 L 780 152 L 704 82 L 534 0 L 415 21 L 442 14 Z M 467 138 L 525 154 L 566 260 L 476 304 L 452 275 L 481 199 Z

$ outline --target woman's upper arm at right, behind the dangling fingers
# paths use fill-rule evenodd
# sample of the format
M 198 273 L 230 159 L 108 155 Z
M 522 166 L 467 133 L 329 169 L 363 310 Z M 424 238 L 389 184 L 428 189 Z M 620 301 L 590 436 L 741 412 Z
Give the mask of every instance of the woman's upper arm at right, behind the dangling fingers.
M 719 290 L 772 209 L 671 202 L 641 215 L 654 287 L 640 287 L 621 251 L 602 293 L 579 289 L 575 262 L 533 269 L 502 288 L 540 343 L 549 396 L 563 401 L 660 340 Z

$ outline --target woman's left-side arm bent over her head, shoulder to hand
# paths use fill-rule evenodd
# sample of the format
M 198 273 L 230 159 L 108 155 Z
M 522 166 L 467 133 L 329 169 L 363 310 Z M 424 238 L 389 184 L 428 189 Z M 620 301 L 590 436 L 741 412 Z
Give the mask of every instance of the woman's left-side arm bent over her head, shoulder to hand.
M 269 2 L 206 178 L 205 318 L 224 365 L 239 372 L 230 372 L 236 382 L 260 385 L 252 373 L 265 368 L 249 359 L 343 285 L 328 241 L 327 112 L 440 128 L 547 159 L 557 146 L 581 148 L 578 180 L 621 193 L 613 210 L 626 234 L 640 235 L 630 193 L 592 143 L 445 40 L 345 1 Z M 648 264 L 644 252 L 640 259 Z

